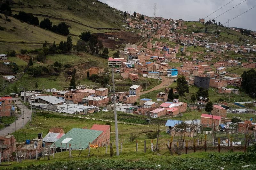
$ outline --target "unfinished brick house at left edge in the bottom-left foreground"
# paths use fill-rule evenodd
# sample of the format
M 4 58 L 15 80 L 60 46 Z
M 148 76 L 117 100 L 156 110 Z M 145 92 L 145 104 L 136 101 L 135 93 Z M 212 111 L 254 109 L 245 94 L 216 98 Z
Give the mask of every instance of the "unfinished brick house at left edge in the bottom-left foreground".
M 0 137 L 0 152 L 2 153 L 2 158 L 8 159 L 8 154 L 11 158 L 12 152 L 16 150 L 16 139 L 14 135 L 7 135 L 5 137 Z

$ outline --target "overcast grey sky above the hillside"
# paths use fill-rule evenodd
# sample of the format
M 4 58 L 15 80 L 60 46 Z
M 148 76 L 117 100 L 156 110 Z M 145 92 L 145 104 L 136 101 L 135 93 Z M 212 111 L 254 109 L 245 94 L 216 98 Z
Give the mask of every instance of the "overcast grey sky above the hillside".
M 229 3 L 231 0 L 100 0 L 109 6 L 121 11 L 133 13 L 139 12 L 147 16 L 154 16 L 154 3 L 156 4 L 156 16 L 173 19 L 183 19 L 186 21 L 199 21 L 199 18 L 205 18 L 220 7 Z M 205 20 L 215 18 L 230 8 L 244 0 L 233 0 L 228 5 L 216 11 Z M 234 9 L 216 18 L 215 21 L 225 23 L 228 19 L 235 18 L 237 15 L 247 11 L 256 5 L 256 0 L 246 0 Z M 243 15 L 229 22 L 229 27 L 239 27 L 255 31 L 256 30 L 256 7 Z M 225 24 L 226 26 L 228 24 Z

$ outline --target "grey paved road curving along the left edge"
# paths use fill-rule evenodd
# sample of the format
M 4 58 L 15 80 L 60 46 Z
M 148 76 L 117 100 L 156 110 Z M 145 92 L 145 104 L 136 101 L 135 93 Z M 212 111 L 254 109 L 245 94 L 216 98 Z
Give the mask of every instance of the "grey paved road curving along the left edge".
M 14 100 L 16 100 L 16 104 L 17 106 L 20 108 L 20 117 L 17 118 L 16 120 L 16 130 L 19 130 L 23 127 L 23 107 L 24 107 L 24 125 L 30 121 L 30 117 L 31 117 L 31 110 L 28 109 L 26 106 L 24 106 L 20 101 L 20 98 L 13 98 Z M 11 134 L 15 132 L 15 122 L 13 122 L 12 124 L 10 124 L 10 126 L 5 127 L 4 129 L 0 130 L 0 136 L 5 136 L 8 133 Z

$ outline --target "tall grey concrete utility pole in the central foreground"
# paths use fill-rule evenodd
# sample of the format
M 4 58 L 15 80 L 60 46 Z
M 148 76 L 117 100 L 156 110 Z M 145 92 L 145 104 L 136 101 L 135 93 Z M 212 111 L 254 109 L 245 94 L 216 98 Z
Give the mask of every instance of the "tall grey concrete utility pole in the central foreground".
M 116 115 L 116 91 L 114 80 L 114 67 L 112 67 L 112 84 L 113 84 L 113 98 L 114 98 L 114 115 L 115 115 L 115 133 L 116 133 L 116 156 L 119 156 L 119 141 L 118 141 L 118 128 L 117 128 L 117 115 Z

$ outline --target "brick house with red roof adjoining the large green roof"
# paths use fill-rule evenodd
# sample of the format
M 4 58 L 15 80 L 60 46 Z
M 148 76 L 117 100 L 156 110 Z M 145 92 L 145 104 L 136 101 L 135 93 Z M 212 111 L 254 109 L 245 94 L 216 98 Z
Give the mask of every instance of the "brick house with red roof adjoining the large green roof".
M 99 144 L 101 147 L 109 145 L 110 142 L 110 129 L 111 127 L 109 125 L 99 125 L 99 124 L 94 124 L 91 127 L 91 130 L 100 130 L 103 131 L 103 133 L 101 134 L 101 138 L 103 138 L 102 140 L 100 140 Z

